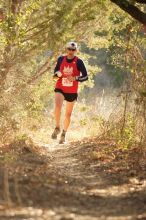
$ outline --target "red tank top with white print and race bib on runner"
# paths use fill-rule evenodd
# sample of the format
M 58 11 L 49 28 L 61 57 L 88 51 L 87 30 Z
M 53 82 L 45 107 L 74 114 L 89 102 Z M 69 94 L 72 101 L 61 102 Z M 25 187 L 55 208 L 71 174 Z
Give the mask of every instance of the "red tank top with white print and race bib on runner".
M 78 57 L 75 56 L 71 63 L 66 60 L 67 56 L 64 56 L 63 61 L 60 65 L 60 72 L 62 77 L 56 82 L 55 88 L 62 89 L 65 93 L 77 93 L 78 91 L 78 81 L 70 82 L 67 76 L 80 76 L 80 71 L 77 69 Z

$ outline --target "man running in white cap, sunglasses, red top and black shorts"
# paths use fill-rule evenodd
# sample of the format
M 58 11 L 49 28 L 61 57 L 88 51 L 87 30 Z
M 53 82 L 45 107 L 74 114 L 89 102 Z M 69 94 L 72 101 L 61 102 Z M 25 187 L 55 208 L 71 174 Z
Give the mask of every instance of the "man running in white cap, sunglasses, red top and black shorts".
M 54 69 L 53 79 L 57 80 L 55 85 L 55 121 L 56 127 L 52 133 L 52 139 L 57 139 L 60 133 L 60 116 L 63 101 L 66 100 L 66 111 L 60 144 L 65 142 L 65 135 L 70 124 L 73 106 L 78 97 L 78 82 L 88 80 L 86 67 L 83 61 L 75 54 L 77 43 L 68 42 L 66 55 L 60 56 Z M 81 73 L 81 74 L 80 74 Z

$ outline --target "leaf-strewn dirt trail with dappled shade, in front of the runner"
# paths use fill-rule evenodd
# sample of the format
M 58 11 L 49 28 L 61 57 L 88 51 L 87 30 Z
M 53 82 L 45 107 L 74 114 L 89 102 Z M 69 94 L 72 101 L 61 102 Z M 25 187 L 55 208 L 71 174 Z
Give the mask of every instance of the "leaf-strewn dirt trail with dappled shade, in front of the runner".
M 3 198 L 0 220 L 146 219 L 146 171 L 137 175 L 105 142 L 86 140 L 30 151 L 10 162 L 11 207 Z

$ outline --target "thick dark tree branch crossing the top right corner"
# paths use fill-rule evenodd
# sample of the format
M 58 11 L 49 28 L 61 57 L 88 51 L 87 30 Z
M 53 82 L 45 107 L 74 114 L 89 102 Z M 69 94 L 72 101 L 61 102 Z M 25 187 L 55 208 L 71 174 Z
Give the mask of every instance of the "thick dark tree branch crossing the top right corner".
M 122 1 L 121 0 L 111 0 L 111 2 L 115 3 L 123 11 L 127 12 L 129 15 L 131 15 L 133 18 L 135 18 L 140 23 L 146 24 L 146 13 L 142 12 L 139 8 L 137 8 L 135 5 L 131 4 L 129 1 L 127 1 L 127 0 L 122 0 Z

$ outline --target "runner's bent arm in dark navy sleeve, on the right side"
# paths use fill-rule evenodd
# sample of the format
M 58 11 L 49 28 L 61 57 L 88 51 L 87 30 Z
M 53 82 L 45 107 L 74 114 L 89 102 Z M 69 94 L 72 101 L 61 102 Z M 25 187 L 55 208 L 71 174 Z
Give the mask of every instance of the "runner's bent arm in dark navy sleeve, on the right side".
M 81 72 L 82 75 L 76 76 L 76 81 L 84 82 L 84 81 L 88 80 L 87 70 L 84 65 L 84 62 L 81 59 L 78 59 L 78 61 L 77 61 L 77 68 Z

